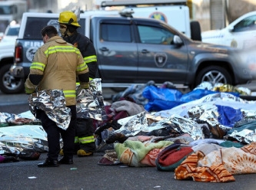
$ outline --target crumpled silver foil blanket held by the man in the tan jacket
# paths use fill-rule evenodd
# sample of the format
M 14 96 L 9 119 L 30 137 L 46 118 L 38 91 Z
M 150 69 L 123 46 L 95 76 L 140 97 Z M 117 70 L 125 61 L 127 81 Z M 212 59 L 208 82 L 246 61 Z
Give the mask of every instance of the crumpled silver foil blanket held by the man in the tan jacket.
M 70 108 L 65 106 L 62 90 L 41 90 L 28 97 L 29 108 L 35 114 L 36 109 L 45 111 L 48 118 L 61 129 L 68 129 L 71 120 Z

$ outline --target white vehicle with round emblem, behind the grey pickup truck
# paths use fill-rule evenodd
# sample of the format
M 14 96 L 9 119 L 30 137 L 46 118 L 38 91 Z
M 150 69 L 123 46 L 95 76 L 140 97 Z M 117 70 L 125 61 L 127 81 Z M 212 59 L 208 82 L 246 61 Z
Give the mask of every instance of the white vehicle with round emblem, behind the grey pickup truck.
M 178 31 L 196 41 L 201 41 L 198 21 L 191 21 L 186 0 L 138 0 L 101 2 L 101 7 L 121 7 L 122 12 L 133 12 L 133 17 L 155 18 L 165 21 Z

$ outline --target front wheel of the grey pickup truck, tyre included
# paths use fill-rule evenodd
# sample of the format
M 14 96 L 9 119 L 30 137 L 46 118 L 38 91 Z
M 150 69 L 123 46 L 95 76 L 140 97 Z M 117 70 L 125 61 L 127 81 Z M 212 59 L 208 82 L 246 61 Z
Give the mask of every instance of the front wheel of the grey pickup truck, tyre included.
M 198 84 L 205 81 L 210 82 L 211 84 L 232 84 L 231 75 L 228 74 L 228 70 L 218 66 L 205 67 L 199 71 L 195 80 L 195 85 L 198 86 Z

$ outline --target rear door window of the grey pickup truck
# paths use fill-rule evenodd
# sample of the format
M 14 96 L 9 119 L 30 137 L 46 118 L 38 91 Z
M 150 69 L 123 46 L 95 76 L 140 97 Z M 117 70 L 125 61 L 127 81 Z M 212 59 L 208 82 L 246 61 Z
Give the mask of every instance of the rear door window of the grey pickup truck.
M 101 24 L 101 40 L 131 42 L 129 25 Z

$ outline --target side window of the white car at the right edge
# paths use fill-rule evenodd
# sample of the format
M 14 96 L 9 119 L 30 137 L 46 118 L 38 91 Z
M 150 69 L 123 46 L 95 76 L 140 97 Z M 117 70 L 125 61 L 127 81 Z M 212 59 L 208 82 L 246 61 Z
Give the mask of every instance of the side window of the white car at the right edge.
M 254 31 L 256 30 L 256 16 L 244 18 L 234 26 L 234 31 Z

